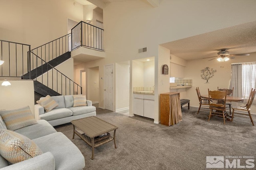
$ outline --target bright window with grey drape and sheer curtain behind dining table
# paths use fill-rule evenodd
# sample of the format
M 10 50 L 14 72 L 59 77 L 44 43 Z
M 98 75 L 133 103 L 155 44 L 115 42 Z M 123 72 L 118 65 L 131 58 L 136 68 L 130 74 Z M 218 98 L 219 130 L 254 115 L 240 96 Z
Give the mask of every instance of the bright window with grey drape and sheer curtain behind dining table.
M 230 88 L 233 96 L 248 98 L 252 88 L 256 88 L 256 62 L 231 64 Z

